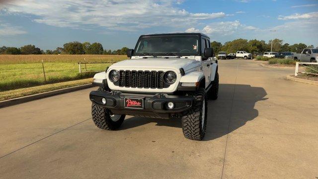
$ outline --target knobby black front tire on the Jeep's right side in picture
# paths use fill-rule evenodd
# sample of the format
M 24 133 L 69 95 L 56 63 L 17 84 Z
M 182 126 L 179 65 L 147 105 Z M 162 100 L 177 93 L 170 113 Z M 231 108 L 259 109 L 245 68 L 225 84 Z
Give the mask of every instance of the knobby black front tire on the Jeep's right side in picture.
M 208 104 L 204 88 L 189 93 L 195 96 L 193 107 L 182 116 L 182 131 L 187 139 L 202 140 L 207 126 Z

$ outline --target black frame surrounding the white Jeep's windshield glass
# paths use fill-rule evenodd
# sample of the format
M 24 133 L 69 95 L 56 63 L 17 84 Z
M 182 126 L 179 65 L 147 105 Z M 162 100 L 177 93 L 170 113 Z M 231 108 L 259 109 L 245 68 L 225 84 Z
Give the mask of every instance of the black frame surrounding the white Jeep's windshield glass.
M 197 44 L 197 53 L 196 54 L 182 54 L 182 53 L 175 53 L 176 55 L 178 56 L 201 56 L 201 35 L 199 34 L 160 34 L 160 35 L 142 35 L 138 38 L 138 41 L 136 43 L 136 46 L 134 48 L 134 55 L 133 56 L 152 56 L 152 55 L 144 55 L 144 53 L 136 53 L 138 47 L 139 47 L 139 44 L 140 44 L 140 41 L 143 39 L 143 38 L 147 38 L 147 37 L 167 37 L 167 36 L 196 36 L 197 37 L 197 41 L 198 41 L 198 44 Z M 167 52 L 167 53 L 174 53 L 174 52 Z M 152 53 L 149 53 L 149 54 L 152 54 Z M 166 53 L 153 53 L 155 54 L 156 56 L 175 56 L 175 55 L 170 55 L 170 54 L 166 54 Z

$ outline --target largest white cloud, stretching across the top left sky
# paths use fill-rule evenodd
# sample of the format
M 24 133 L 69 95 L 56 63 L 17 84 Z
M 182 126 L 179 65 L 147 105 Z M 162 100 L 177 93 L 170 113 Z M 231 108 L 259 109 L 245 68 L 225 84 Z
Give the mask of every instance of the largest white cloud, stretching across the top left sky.
M 1 4 L 6 14 L 28 14 L 35 22 L 58 27 L 136 31 L 150 27 L 183 28 L 224 12 L 190 13 L 174 7 L 183 0 L 16 0 Z M 182 23 L 180 23 L 182 22 Z

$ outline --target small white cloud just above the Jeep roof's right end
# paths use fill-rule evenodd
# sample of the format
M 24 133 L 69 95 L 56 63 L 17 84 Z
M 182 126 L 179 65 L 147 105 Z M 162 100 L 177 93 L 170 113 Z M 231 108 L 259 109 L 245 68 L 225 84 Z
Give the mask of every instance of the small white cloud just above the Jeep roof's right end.
M 241 24 L 238 20 L 236 21 L 226 21 L 226 22 L 214 22 L 206 25 L 202 30 L 195 29 L 194 27 L 189 28 L 187 31 L 203 32 L 206 34 L 218 34 L 218 35 L 231 35 L 233 33 L 248 31 L 248 30 L 258 30 L 257 27 L 246 26 Z

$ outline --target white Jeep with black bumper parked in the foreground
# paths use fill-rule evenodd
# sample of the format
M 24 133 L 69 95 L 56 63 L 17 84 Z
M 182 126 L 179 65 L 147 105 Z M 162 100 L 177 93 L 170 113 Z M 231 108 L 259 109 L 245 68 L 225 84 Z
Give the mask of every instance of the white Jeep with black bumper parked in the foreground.
M 202 33 L 142 35 L 128 60 L 94 76 L 92 120 L 115 130 L 125 115 L 181 119 L 186 138 L 202 140 L 208 99 L 217 99 L 218 61 Z

